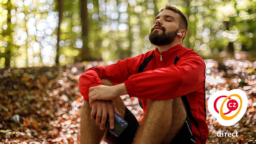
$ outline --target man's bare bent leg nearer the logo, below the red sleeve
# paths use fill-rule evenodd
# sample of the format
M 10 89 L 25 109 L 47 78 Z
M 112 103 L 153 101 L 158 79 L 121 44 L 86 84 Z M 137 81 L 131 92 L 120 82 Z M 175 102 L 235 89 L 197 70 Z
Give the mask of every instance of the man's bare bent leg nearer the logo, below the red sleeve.
M 151 100 L 133 143 L 170 143 L 183 126 L 185 119 L 186 110 L 181 97 L 162 101 Z

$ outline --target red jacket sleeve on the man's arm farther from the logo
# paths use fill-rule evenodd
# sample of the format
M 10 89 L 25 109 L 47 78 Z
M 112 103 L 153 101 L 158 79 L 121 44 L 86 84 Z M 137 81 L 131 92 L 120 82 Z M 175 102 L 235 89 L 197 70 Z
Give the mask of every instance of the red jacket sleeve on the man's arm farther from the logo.
M 119 60 L 115 64 L 106 67 L 93 67 L 86 70 L 79 77 L 79 91 L 88 100 L 89 88 L 97 85 L 103 85 L 101 79 L 109 79 L 114 85 L 123 83 L 132 74 L 136 73 L 140 65 L 143 54 L 125 60 Z

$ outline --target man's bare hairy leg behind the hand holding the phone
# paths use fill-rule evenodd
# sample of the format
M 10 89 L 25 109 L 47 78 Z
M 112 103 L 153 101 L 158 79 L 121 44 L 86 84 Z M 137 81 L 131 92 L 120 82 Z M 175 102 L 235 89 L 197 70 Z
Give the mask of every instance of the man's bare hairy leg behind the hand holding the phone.
M 104 85 L 112 86 L 113 84 L 106 80 L 102 80 Z M 113 100 L 116 104 L 117 110 L 124 116 L 125 105 L 120 97 Z M 82 115 L 81 115 L 81 126 L 80 126 L 80 143 L 81 144 L 99 144 L 104 137 L 105 130 L 100 130 L 99 126 L 95 124 L 94 120 L 91 120 L 91 110 L 89 101 L 85 100 Z

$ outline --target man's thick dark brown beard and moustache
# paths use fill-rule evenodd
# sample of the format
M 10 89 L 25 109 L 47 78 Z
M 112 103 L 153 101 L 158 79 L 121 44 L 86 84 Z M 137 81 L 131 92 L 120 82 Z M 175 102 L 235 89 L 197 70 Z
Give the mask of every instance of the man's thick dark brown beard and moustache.
M 158 30 L 154 31 L 154 27 L 151 29 L 151 32 L 149 34 L 149 41 L 156 46 L 163 46 L 168 45 L 174 41 L 174 39 L 177 36 L 178 30 L 176 31 L 168 31 L 165 33 L 165 27 L 162 27 L 161 25 L 155 25 L 161 27 L 163 33 L 159 32 Z

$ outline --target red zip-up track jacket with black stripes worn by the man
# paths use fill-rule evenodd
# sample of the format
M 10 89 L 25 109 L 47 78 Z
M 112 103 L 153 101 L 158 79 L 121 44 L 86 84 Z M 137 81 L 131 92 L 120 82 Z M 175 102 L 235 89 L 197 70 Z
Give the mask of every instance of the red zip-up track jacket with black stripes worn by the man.
M 139 73 L 141 68 L 143 72 Z M 114 85 L 125 83 L 129 96 L 141 100 L 144 114 L 147 99 L 167 100 L 185 96 L 188 102 L 186 107 L 189 107 L 187 113 L 191 111 L 192 114 L 189 118 L 196 144 L 205 144 L 209 130 L 205 122 L 204 72 L 205 63 L 202 58 L 179 44 L 161 54 L 155 48 L 106 67 L 90 68 L 80 76 L 79 90 L 84 100 L 88 100 L 89 88 L 103 85 L 101 79 L 109 79 Z

